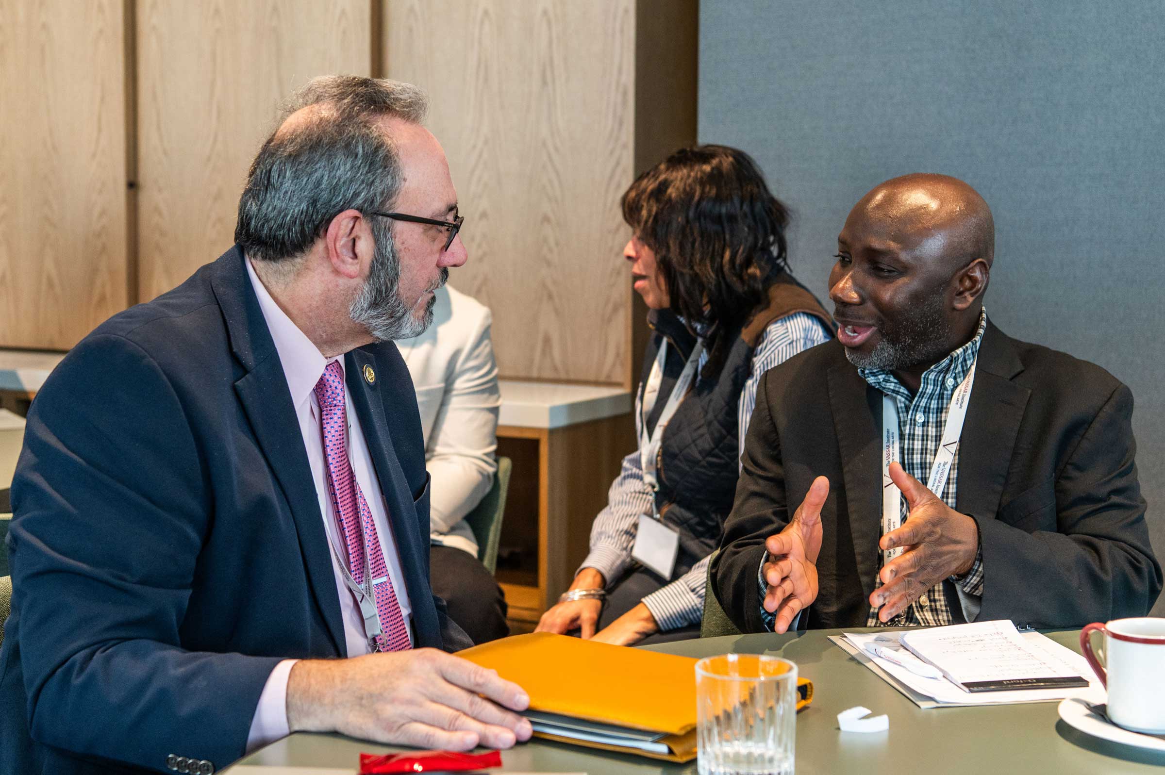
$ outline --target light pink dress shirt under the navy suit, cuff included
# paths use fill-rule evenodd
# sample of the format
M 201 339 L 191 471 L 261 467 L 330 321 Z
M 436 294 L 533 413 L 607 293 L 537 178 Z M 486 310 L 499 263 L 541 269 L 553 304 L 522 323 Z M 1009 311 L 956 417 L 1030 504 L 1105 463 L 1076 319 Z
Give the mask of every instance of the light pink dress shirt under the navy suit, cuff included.
M 332 360 L 340 361 L 344 368 L 343 358 L 324 358 L 319 348 L 311 343 L 299 327 L 291 322 L 291 318 L 280 309 L 267 288 L 259 280 L 255 269 L 247 259 L 247 275 L 250 284 L 259 297 L 259 307 L 263 311 L 263 319 L 267 320 L 267 329 L 275 341 L 275 350 L 280 354 L 280 362 L 283 365 L 283 375 L 287 378 L 288 388 L 291 392 L 291 404 L 295 407 L 296 417 L 299 421 L 299 432 L 303 435 L 303 445 L 308 451 L 308 462 L 311 464 L 311 480 L 316 485 L 316 496 L 319 501 L 319 512 L 324 515 L 324 528 L 327 530 L 327 540 L 336 552 L 331 550 L 332 571 L 336 573 L 336 592 L 340 598 L 340 613 L 344 618 L 344 639 L 347 642 L 348 656 L 360 656 L 368 654 L 368 636 L 365 634 L 363 617 L 360 614 L 360 606 L 355 597 L 344 584 L 344 572 L 337 563 L 337 552 L 340 557 L 347 556 L 347 549 L 340 529 L 336 520 L 336 507 L 332 503 L 331 491 L 327 486 L 327 466 L 324 460 L 324 442 L 319 429 L 319 402 L 316 400 L 313 388 L 324 373 L 324 367 Z M 404 626 L 409 630 L 409 640 L 412 641 L 412 622 L 409 615 L 412 606 L 409 604 L 409 593 L 404 589 L 404 576 L 401 572 L 401 558 L 396 554 L 396 543 L 393 540 L 393 529 L 388 523 L 384 495 L 376 479 L 376 471 L 373 467 L 372 457 L 368 453 L 368 444 L 365 442 L 363 432 L 360 429 L 360 418 L 352 408 L 352 399 L 348 396 L 348 458 L 352 470 L 356 477 L 356 484 L 363 492 L 372 510 L 373 522 L 376 524 L 376 534 L 380 537 L 380 547 L 384 552 L 384 561 L 388 564 L 388 576 L 393 580 L 393 589 L 396 591 L 397 601 L 401 604 L 401 613 L 404 617 Z M 259 697 L 259 706 L 250 721 L 250 732 L 247 735 L 247 752 L 274 742 L 288 734 L 287 713 L 287 689 L 288 675 L 291 665 L 297 660 L 283 660 L 271 675 L 267 678 L 263 693 Z

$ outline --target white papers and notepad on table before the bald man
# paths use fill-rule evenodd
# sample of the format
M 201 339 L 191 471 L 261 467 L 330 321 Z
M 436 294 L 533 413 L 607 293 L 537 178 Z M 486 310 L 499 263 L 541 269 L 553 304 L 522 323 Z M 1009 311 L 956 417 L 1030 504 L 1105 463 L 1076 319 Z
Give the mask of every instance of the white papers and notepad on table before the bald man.
M 1047 703 L 1065 697 L 1104 702 L 1104 688 L 1082 656 L 1039 633 L 1021 633 L 1007 620 L 916 630 L 845 633 L 843 637 L 829 640 L 919 707 Z M 885 649 L 892 660 L 871 654 L 873 647 Z M 924 675 L 935 672 L 941 675 Z M 1062 681 L 1054 681 L 1057 678 Z M 1012 685 L 1030 685 L 1032 679 L 1042 679 L 1045 682 L 1042 685 L 1054 688 L 968 691 L 960 686 L 960 683 L 975 688 L 974 684 L 1008 681 L 1018 682 Z M 1046 683 L 1048 679 L 1051 683 Z M 1080 679 L 1086 681 L 1087 686 L 1072 685 L 1083 682 Z

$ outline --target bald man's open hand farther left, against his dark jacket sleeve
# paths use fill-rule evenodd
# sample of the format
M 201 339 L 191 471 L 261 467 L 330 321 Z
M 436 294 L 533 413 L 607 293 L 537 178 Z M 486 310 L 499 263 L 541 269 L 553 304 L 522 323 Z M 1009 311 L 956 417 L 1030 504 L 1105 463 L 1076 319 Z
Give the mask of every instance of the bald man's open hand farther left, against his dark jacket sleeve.
M 762 573 L 768 585 L 764 610 L 776 613 L 774 632 L 783 633 L 798 613 L 817 599 L 817 556 L 821 551 L 821 506 L 829 494 L 829 480 L 813 480 L 805 500 L 785 529 L 770 535 L 764 548 L 772 562 Z

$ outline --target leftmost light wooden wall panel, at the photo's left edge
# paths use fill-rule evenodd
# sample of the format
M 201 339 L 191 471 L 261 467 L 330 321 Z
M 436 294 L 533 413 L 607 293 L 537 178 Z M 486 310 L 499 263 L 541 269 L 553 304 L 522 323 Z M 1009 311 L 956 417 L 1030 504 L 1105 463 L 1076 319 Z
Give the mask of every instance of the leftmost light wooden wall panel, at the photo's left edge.
M 121 0 L 0 0 L 0 346 L 65 350 L 127 302 Z

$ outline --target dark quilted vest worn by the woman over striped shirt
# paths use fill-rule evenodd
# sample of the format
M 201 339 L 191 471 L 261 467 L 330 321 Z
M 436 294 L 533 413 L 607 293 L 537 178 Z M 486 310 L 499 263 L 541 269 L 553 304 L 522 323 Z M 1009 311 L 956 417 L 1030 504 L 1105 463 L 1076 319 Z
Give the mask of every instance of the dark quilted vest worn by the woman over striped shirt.
M 833 332 L 833 320 L 813 294 L 788 273 L 781 273 L 769 288 L 768 305 L 754 312 L 727 340 L 732 346 L 719 376 L 698 380 L 664 429 L 656 508 L 665 523 L 679 530 L 673 577 L 686 572 L 720 544 L 740 475 L 737 408 L 751 373 L 753 353 L 770 323 L 797 312 L 817 317 Z M 665 338 L 669 343 L 664 379 L 654 411 L 648 416 L 648 428 L 654 429 L 697 339 L 671 311 L 652 310 L 648 325 L 654 334 L 643 358 L 641 399 L 661 343 Z

